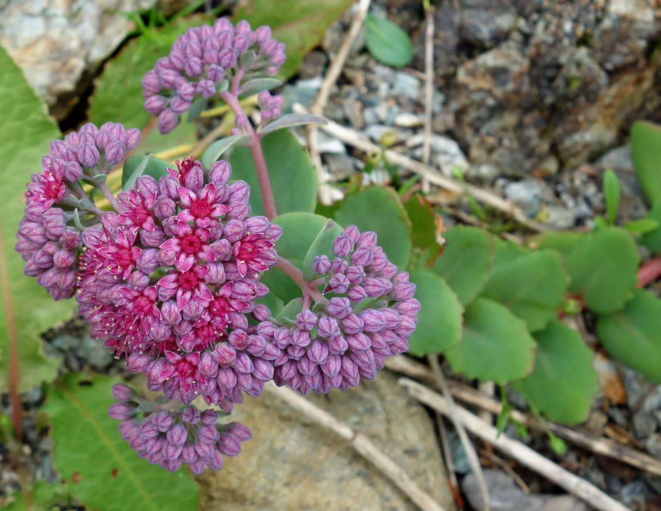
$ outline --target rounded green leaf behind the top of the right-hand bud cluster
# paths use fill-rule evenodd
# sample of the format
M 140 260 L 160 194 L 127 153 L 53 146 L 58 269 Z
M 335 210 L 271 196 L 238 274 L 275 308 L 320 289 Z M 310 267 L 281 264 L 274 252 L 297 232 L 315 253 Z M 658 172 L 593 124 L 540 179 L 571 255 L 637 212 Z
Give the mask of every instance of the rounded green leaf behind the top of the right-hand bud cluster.
M 398 268 L 408 266 L 411 223 L 392 188 L 371 186 L 347 197 L 335 214 L 340 225 L 355 224 L 360 232 L 374 231 L 388 258 Z

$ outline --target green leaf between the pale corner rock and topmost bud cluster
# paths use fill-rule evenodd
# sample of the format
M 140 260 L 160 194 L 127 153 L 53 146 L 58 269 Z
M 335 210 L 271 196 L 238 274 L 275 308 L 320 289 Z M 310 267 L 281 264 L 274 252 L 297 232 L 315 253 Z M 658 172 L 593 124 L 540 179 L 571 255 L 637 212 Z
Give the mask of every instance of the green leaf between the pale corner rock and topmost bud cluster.
M 142 77 L 159 58 L 167 56 L 173 42 L 186 28 L 213 20 L 207 15 L 181 17 L 130 40 L 115 58 L 108 60 L 103 73 L 95 79 L 90 120 L 97 126 L 112 121 L 122 122 L 126 128 L 145 128 L 154 117 L 142 106 Z

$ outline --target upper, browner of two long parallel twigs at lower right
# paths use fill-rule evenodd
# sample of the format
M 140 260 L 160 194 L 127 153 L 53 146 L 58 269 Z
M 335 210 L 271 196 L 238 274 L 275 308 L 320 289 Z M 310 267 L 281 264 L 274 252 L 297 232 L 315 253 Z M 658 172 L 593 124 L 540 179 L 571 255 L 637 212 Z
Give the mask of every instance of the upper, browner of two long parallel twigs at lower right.
M 429 368 L 419 362 L 410 360 L 410 358 L 403 355 L 387 358 L 385 360 L 385 366 L 391 371 L 405 374 L 418 381 L 424 381 L 434 387 L 437 385 L 434 375 Z M 463 383 L 458 383 L 456 381 L 449 381 L 449 386 L 453 397 L 463 403 L 468 403 L 479 409 L 488 410 L 490 413 L 496 415 L 502 411 L 502 403 L 500 403 L 500 401 L 488 397 L 468 385 L 463 385 Z M 512 410 L 510 411 L 510 415 L 512 418 L 522 422 L 522 424 L 525 424 L 525 426 L 528 426 L 529 428 L 545 432 L 545 427 L 542 424 L 539 424 L 537 420 L 524 413 Z M 553 424 L 553 422 L 546 421 L 545 424 L 546 428 L 548 428 L 553 434 L 564 438 L 564 440 L 567 440 L 568 442 L 572 442 L 572 444 L 576 444 L 588 451 L 617 459 L 618 461 L 627 463 L 627 465 L 631 465 L 632 467 L 637 467 L 650 473 L 661 475 L 661 460 L 626 446 L 621 442 L 617 442 L 617 440 L 586 434 L 572 428 Z

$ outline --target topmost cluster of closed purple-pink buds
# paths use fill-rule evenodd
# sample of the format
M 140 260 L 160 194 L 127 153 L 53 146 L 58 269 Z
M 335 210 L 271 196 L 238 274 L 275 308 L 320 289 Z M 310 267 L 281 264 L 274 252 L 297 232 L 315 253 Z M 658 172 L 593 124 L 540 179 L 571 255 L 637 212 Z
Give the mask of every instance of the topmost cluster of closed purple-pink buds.
M 235 27 L 220 18 L 214 26 L 188 28 L 142 79 L 145 110 L 169 133 L 196 97 L 211 98 L 225 80 L 273 76 L 284 61 L 284 44 L 271 38 L 269 26 L 251 30 L 246 20 Z

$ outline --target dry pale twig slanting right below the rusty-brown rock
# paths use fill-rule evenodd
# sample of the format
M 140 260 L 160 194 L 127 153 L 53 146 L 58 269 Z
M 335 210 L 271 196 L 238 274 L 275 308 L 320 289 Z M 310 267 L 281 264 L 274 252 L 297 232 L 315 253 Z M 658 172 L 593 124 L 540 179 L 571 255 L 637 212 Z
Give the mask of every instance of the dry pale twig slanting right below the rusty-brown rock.
M 307 113 L 307 110 L 300 104 L 294 104 L 292 109 L 297 113 Z M 327 134 L 366 153 L 381 153 L 381 147 L 372 143 L 369 138 L 362 133 L 352 130 L 351 128 L 340 126 L 340 124 L 337 124 L 332 120 L 327 121 L 327 124 L 319 126 L 321 130 L 327 132 Z M 492 206 L 493 208 L 496 208 L 496 210 L 508 214 L 516 221 L 524 224 L 528 229 L 537 232 L 545 232 L 549 230 L 546 225 L 542 225 L 539 222 L 529 219 L 523 210 L 518 208 L 518 206 L 510 200 L 498 197 L 492 192 L 488 192 L 487 190 L 483 190 L 472 184 L 466 184 L 457 178 L 445 176 L 440 173 L 440 171 L 437 171 L 428 165 L 424 165 L 424 163 L 420 163 L 419 161 L 412 160 L 407 156 L 401 155 L 392 149 L 385 150 L 385 157 L 389 162 L 419 174 L 422 177 L 426 177 L 431 183 L 436 184 L 436 186 L 445 188 L 457 195 L 465 194 L 465 187 L 471 195 L 475 197 L 475 200 L 482 202 L 483 204 L 488 204 L 488 206 Z

